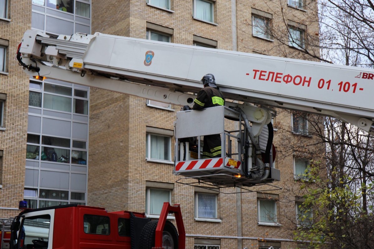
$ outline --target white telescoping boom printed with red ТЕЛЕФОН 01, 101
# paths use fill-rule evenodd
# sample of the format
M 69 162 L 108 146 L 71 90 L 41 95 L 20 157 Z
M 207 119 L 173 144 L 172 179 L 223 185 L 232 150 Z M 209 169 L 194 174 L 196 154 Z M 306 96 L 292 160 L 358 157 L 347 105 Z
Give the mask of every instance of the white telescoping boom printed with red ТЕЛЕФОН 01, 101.
M 63 80 L 181 106 L 192 105 L 196 97 L 194 94 L 202 88 L 199 83 L 201 77 L 213 74 L 226 99 L 243 102 L 226 104 L 240 109 L 236 109 L 234 114 L 224 111 L 224 115 L 251 122 L 247 135 L 253 143 L 272 118 L 268 106 L 333 116 L 374 134 L 374 103 L 370 95 L 374 91 L 372 69 L 101 33 L 51 38 L 33 30 L 25 32 L 18 59 L 30 76 Z M 241 140 L 240 137 L 235 139 Z M 242 153 L 236 160 L 243 158 L 245 149 Z M 225 156 L 223 153 L 223 160 Z M 188 158 L 183 159 L 176 161 L 188 161 Z M 231 164 L 235 162 L 225 162 L 222 167 L 231 167 L 231 175 L 240 170 L 239 173 L 245 173 L 247 177 L 258 166 L 254 163 L 257 166 L 253 167 L 250 163 L 235 169 Z M 242 168 L 246 168 L 244 173 Z M 177 173 L 196 177 L 196 174 L 189 175 L 184 171 L 177 170 Z M 279 180 L 275 170 L 268 175 L 271 176 L 270 181 Z M 263 178 L 251 180 L 258 183 Z M 213 184 L 227 185 L 220 180 Z

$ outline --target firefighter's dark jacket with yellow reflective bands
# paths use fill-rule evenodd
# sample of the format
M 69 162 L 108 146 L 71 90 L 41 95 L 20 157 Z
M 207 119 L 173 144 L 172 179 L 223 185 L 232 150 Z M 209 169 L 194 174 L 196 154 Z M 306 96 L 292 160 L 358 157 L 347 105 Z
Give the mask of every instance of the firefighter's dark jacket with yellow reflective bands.
M 218 88 L 208 86 L 204 87 L 199 91 L 199 93 L 197 93 L 197 97 L 193 102 L 194 105 L 192 109 L 200 110 L 213 106 L 223 106 L 225 103 L 225 99 Z

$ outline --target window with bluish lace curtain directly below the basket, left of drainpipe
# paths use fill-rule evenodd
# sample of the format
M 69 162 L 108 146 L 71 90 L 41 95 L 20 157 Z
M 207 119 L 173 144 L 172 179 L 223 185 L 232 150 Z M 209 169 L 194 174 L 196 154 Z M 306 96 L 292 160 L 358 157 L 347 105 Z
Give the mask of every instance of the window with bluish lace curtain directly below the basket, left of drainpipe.
M 195 194 L 195 217 L 217 219 L 217 194 Z

